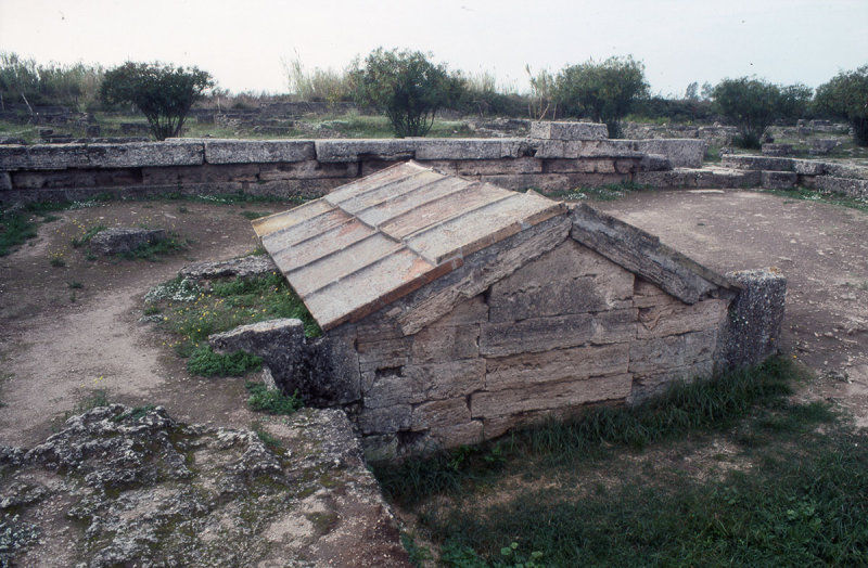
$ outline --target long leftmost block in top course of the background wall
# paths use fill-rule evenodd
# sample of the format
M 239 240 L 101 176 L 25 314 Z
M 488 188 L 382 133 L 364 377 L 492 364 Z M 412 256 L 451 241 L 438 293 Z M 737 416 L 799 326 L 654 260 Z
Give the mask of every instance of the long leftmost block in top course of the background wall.
M 0 145 L 0 169 L 129 168 L 193 166 L 204 162 L 196 140 L 129 144 Z

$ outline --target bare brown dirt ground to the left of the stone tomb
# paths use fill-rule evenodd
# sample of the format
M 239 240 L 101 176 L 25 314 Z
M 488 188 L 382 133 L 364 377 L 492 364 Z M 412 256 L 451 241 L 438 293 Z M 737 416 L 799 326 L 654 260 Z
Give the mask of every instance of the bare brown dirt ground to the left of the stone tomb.
M 182 422 L 248 427 L 257 415 L 245 408 L 244 380 L 191 377 L 167 337 L 139 321 L 142 297 L 191 261 L 251 251 L 243 211 L 288 207 L 115 202 L 56 212 L 37 238 L 0 257 L 0 443 L 39 443 L 99 389 L 112 402 L 165 405 Z M 71 240 L 95 224 L 164 228 L 189 248 L 153 262 L 88 260 Z

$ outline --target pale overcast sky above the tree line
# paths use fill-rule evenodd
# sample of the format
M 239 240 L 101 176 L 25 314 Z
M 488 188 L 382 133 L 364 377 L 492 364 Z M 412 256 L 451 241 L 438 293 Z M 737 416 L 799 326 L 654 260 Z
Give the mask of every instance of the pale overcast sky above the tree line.
M 450 69 L 526 90 L 633 54 L 654 93 L 756 75 L 817 87 L 868 64 L 868 0 L 0 0 L 0 50 L 40 63 L 196 65 L 234 92 L 286 92 L 282 61 L 343 68 L 376 47 L 430 51 Z

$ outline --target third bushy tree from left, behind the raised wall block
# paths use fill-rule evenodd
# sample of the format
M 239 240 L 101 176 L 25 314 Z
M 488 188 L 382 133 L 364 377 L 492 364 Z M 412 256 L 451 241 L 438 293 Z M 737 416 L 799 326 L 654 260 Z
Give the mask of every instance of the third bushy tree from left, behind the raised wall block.
M 621 119 L 635 101 L 648 96 L 644 65 L 631 55 L 566 66 L 554 79 L 554 88 L 564 114 L 605 122 L 611 138 L 621 135 Z

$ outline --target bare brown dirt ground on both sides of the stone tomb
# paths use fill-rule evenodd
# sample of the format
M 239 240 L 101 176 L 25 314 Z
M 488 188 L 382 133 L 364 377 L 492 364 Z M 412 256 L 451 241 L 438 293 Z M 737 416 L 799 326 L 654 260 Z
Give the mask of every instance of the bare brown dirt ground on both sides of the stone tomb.
M 781 349 L 824 377 L 804 396 L 840 401 L 868 426 L 868 215 L 719 190 L 595 205 L 720 272 L 779 267 L 789 280 Z M 165 405 L 183 422 L 250 426 L 256 416 L 244 408 L 243 379 L 191 377 L 166 337 L 140 323 L 142 296 L 193 260 L 250 251 L 254 233 L 242 211 L 286 207 L 110 203 L 59 212 L 36 240 L 0 257 L 0 442 L 40 442 L 97 389 L 112 401 Z M 69 243 L 94 224 L 165 228 L 192 243 L 157 262 L 88 260 Z

